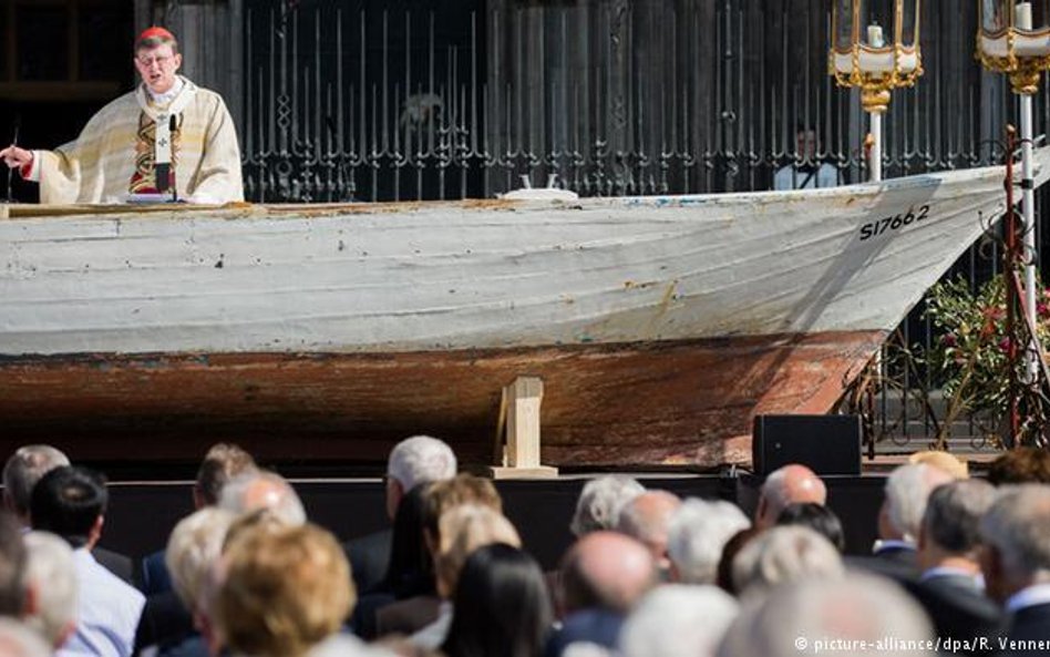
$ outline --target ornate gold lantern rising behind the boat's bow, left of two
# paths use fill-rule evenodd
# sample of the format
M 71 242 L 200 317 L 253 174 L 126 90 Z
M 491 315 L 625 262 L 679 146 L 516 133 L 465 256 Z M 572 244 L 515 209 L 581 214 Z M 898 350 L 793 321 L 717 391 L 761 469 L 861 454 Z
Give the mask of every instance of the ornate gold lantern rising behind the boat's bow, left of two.
M 861 88 L 871 116 L 872 181 L 883 178 L 882 116 L 889 95 L 923 74 L 919 50 L 922 0 L 834 0 L 828 71 L 841 86 Z

